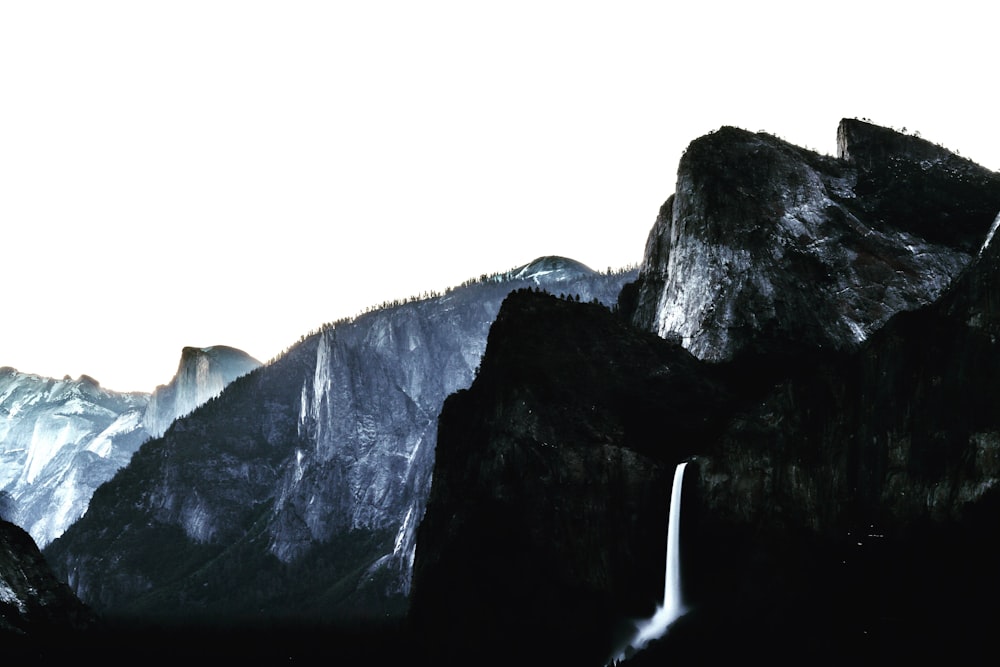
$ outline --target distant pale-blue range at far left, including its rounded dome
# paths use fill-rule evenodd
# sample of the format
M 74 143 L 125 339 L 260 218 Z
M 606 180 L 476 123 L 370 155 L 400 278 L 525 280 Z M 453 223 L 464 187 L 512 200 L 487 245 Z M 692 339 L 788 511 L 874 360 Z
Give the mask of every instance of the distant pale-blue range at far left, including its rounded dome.
M 44 548 L 151 435 L 259 365 L 233 348 L 184 348 L 152 395 L 0 369 L 0 516 Z

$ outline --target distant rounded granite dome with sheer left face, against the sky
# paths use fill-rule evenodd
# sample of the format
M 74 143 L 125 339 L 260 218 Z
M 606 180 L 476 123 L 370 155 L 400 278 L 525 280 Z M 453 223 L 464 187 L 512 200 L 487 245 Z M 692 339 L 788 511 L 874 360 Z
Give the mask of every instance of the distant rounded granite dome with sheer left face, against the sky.
M 185 347 L 177 373 L 149 399 L 142 424 L 153 437 L 163 435 L 178 417 L 218 396 L 230 382 L 258 368 L 260 362 L 225 345 Z

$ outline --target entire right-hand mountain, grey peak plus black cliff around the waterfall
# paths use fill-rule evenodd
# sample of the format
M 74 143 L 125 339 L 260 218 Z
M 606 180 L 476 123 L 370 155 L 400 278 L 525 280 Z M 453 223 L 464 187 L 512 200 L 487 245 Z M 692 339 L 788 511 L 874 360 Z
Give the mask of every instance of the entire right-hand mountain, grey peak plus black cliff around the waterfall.
M 1000 176 L 860 121 L 692 142 L 617 313 L 518 292 L 445 402 L 410 621 L 437 664 L 978 664 L 1000 616 Z

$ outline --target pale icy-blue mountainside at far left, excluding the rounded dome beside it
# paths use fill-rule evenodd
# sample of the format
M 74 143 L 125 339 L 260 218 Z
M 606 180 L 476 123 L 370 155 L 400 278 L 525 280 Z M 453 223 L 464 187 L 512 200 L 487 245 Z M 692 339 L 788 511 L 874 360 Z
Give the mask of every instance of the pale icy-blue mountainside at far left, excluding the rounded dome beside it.
M 87 376 L 55 380 L 0 369 L 3 517 L 42 547 L 61 535 L 149 437 L 142 428 L 148 400 Z

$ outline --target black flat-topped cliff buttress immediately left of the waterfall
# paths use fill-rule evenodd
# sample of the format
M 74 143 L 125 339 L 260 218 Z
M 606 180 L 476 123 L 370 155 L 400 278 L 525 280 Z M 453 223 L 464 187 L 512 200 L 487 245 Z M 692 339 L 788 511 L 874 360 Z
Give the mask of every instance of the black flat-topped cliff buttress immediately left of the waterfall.
M 706 364 L 600 305 L 512 294 L 440 418 L 412 600 L 434 659 L 610 654 L 609 630 L 652 612 L 647 583 L 662 590 L 674 464 L 732 403 Z

